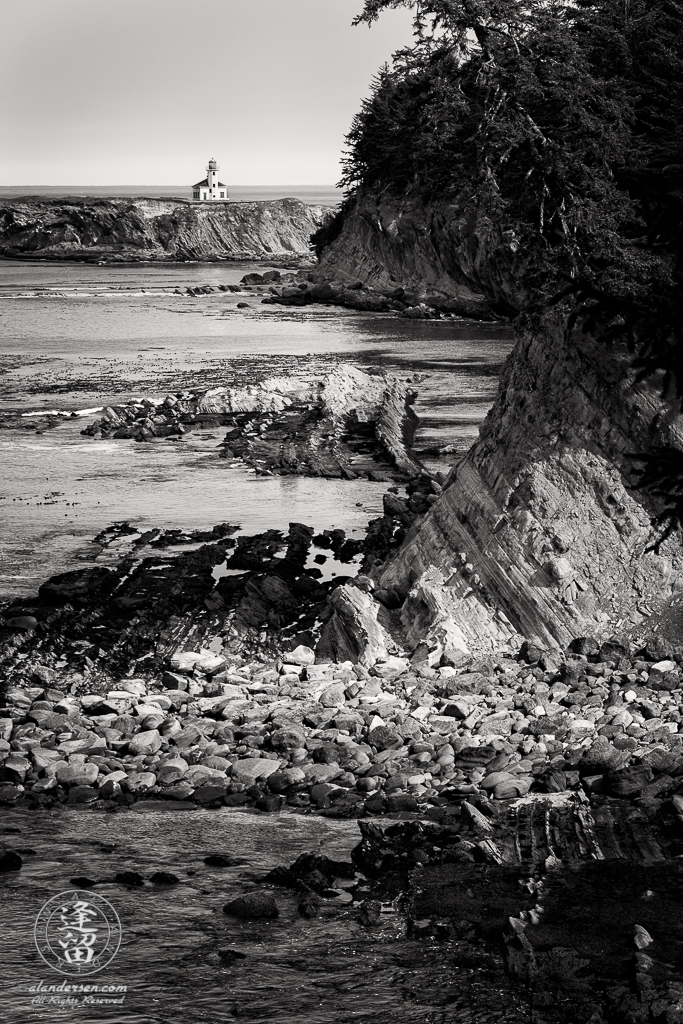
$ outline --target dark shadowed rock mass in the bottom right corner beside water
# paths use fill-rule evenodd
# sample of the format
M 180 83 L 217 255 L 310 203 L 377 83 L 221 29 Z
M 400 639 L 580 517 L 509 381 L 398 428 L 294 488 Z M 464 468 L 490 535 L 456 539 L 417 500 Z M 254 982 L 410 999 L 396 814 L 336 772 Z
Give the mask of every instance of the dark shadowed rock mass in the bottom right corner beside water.
M 486 816 L 470 808 L 440 825 L 359 822 L 348 891 L 361 926 L 382 928 L 382 909 L 398 907 L 403 934 L 442 943 L 444 955 L 502 949 L 509 980 L 547 1024 L 677 1022 L 682 891 L 668 858 L 683 827 L 671 804 L 548 794 L 489 805 Z M 303 861 L 280 884 L 289 876 L 313 892 Z M 318 873 L 334 872 L 322 863 Z

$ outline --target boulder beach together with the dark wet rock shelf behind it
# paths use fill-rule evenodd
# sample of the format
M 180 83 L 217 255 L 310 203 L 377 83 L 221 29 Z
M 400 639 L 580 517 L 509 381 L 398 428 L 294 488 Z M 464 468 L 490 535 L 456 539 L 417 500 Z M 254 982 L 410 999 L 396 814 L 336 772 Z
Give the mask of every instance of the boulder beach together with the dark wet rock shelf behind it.
M 224 524 L 175 556 L 133 554 L 173 531 L 98 538 L 130 538 L 117 568 L 3 609 L 0 802 L 477 821 L 501 801 L 583 793 L 683 814 L 683 648 L 411 643 L 372 575 L 430 496 L 418 478 L 365 542 L 316 538 L 371 573 L 328 583 L 300 524 L 237 542 Z

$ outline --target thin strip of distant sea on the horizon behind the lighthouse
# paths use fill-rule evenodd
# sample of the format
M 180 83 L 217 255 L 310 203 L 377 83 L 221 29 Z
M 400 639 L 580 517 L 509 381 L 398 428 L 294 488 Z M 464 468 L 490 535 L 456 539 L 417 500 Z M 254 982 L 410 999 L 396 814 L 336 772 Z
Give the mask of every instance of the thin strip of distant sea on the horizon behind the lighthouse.
M 191 184 L 191 182 L 190 182 Z M 335 185 L 228 185 L 229 198 L 236 203 L 255 203 L 274 199 L 300 199 L 302 203 L 337 206 L 344 198 Z M 67 196 L 90 196 L 97 199 L 115 197 L 133 199 L 146 196 L 154 199 L 191 199 L 189 185 L 0 185 L 0 201 L 44 196 L 63 199 Z

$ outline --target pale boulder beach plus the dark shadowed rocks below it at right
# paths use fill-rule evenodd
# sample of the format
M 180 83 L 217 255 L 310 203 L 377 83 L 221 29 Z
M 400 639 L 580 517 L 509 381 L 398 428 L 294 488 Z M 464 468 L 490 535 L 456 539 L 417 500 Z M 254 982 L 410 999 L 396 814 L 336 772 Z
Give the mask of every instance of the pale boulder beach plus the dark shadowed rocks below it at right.
M 422 998 L 452 1009 L 484 957 L 537 1024 L 680 1021 L 683 649 L 583 638 L 564 655 L 525 643 L 457 668 L 416 650 L 366 669 L 301 644 L 247 660 L 211 643 L 105 685 L 92 664 L 76 673 L 47 653 L 46 630 L 3 632 L 16 668 L 0 717 L 5 810 L 359 819 L 350 863 L 301 854 L 223 913 L 253 931 L 293 898 L 300 918 L 336 908 L 373 943 L 435 944 L 457 984 L 434 978 Z M 9 838 L 0 871 L 33 852 Z M 71 881 L 177 886 L 169 867 Z M 218 957 L 248 954 L 219 944 Z

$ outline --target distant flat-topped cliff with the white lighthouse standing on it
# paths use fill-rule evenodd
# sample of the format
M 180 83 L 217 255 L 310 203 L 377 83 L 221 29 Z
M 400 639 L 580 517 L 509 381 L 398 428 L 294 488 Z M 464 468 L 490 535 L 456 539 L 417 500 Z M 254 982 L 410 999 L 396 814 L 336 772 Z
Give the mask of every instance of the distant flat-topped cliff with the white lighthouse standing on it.
M 302 256 L 326 216 L 325 207 L 296 199 L 15 200 L 0 205 L 0 256 L 98 262 Z

